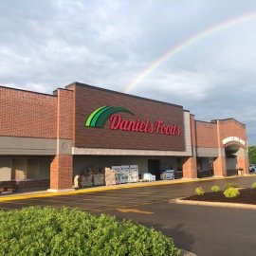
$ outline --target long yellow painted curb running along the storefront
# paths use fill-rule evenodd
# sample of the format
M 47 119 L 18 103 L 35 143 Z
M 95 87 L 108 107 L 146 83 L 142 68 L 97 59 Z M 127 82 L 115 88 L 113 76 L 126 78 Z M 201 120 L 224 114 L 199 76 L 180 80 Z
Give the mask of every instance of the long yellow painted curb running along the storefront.
M 114 185 L 114 186 L 102 186 L 102 187 L 94 187 L 81 189 L 73 192 L 39 192 L 39 193 L 31 193 L 31 194 L 17 194 L 17 195 L 9 195 L 9 196 L 0 196 L 0 202 L 5 201 L 14 201 L 14 200 L 22 200 L 22 199 L 30 199 L 30 198 L 43 198 L 43 197 L 51 197 L 58 195 L 68 195 L 68 194 L 77 194 L 77 193 L 87 193 L 87 192 L 106 192 L 106 191 L 117 191 L 123 189 L 131 189 L 131 188 L 142 188 L 142 187 L 155 187 L 162 185 L 174 185 L 174 184 L 182 184 L 182 183 L 192 183 L 192 182 L 201 182 L 206 180 L 220 180 L 220 179 L 232 179 L 236 177 L 251 177 L 256 176 L 256 174 L 248 174 L 244 176 L 229 176 L 229 177 L 205 177 L 205 178 L 195 178 L 195 179 L 174 179 L 174 180 L 165 180 L 165 181 L 154 181 L 154 182 L 143 182 L 143 183 L 129 183 L 122 185 Z

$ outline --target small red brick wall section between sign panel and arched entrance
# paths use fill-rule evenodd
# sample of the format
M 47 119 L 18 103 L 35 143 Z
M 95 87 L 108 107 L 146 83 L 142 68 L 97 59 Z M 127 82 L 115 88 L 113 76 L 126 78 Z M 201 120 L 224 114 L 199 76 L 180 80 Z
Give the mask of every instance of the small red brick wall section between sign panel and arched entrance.
M 195 121 L 197 147 L 218 147 L 217 125 L 215 123 Z

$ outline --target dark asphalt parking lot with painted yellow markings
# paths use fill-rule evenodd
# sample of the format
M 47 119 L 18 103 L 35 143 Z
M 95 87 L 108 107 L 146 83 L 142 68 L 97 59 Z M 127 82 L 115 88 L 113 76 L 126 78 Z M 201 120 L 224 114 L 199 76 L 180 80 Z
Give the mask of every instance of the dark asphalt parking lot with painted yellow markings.
M 5 201 L 0 202 L 0 209 L 50 206 L 111 214 L 160 229 L 174 238 L 177 247 L 197 255 L 254 255 L 255 210 L 169 203 L 170 199 L 192 194 L 198 186 L 210 191 L 213 184 L 224 187 L 230 182 L 250 187 L 256 176 Z

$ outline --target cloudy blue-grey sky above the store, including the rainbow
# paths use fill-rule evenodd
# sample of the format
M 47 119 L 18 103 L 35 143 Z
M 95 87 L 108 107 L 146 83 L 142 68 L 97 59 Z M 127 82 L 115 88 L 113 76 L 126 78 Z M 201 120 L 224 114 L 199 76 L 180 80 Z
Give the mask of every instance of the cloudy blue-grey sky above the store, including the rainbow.
M 0 0 L 0 84 L 84 82 L 234 118 L 256 145 L 255 0 Z

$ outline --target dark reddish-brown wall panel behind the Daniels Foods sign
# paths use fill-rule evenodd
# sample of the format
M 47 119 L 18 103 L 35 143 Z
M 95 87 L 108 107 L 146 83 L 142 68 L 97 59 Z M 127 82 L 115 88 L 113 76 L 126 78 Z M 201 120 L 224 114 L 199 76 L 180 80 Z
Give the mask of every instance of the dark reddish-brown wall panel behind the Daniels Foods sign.
M 68 87 L 69 89 L 70 87 Z M 74 86 L 73 88 L 74 89 Z M 76 85 L 76 135 L 75 146 L 86 148 L 141 149 L 141 150 L 185 150 L 183 108 L 168 103 L 149 101 L 94 87 Z M 111 130 L 109 119 L 103 128 L 85 127 L 89 115 L 101 106 L 122 106 L 135 116 L 121 113 L 123 119 L 155 123 L 160 119 L 167 125 L 176 123 L 181 128 L 180 136 L 147 134 L 131 131 Z

